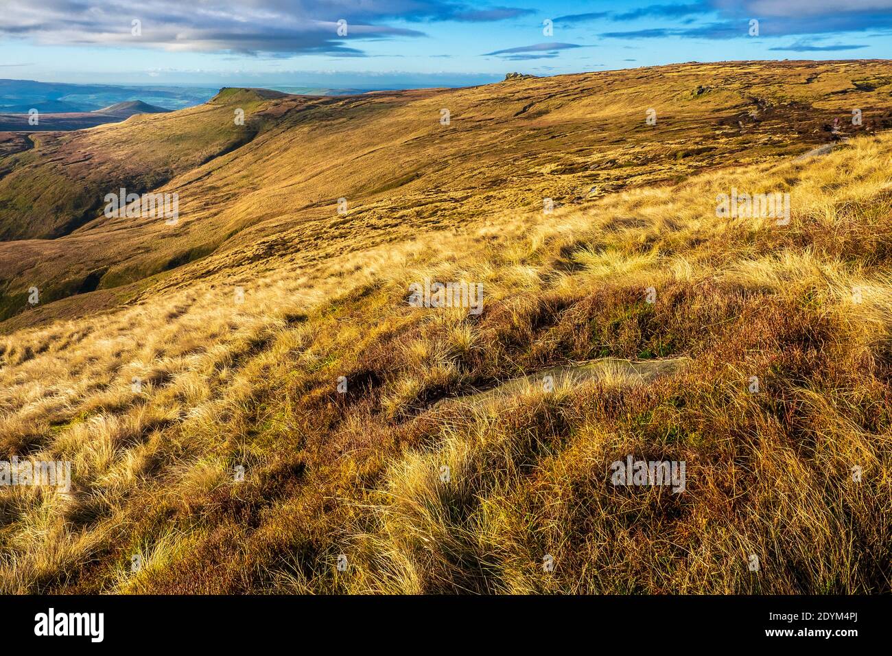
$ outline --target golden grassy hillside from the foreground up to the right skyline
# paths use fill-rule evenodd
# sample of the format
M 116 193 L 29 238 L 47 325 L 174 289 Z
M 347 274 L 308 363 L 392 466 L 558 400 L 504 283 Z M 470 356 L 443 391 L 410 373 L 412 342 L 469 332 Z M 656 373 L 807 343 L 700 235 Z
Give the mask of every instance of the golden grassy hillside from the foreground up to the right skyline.
M 0 490 L 0 591 L 889 592 L 887 66 L 265 104 L 178 179 L 212 253 L 7 322 L 0 458 L 74 485 Z M 862 129 L 798 157 L 855 97 Z M 789 225 L 717 217 L 731 187 L 789 193 Z M 139 229 L 12 245 L 127 261 Z M 483 312 L 412 307 L 424 278 Z M 612 486 L 627 455 L 685 461 L 685 491 Z

